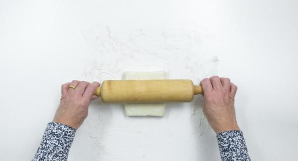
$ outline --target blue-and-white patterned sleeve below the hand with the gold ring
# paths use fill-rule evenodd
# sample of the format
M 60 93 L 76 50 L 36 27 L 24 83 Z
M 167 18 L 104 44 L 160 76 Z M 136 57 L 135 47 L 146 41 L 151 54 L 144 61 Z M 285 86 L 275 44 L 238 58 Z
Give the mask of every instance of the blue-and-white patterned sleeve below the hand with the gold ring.
M 32 161 L 67 161 L 75 129 L 62 123 L 48 124 Z

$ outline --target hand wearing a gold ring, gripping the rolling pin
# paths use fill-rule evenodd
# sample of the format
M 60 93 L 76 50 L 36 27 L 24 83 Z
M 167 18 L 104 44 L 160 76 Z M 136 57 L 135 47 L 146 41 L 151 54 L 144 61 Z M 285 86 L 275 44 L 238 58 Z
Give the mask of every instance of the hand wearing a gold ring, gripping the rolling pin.
M 70 85 L 76 89 L 70 88 Z M 97 99 L 94 92 L 100 86 L 98 82 L 73 80 L 63 84 L 60 105 L 56 110 L 53 122 L 63 123 L 77 129 L 88 115 L 91 100 Z

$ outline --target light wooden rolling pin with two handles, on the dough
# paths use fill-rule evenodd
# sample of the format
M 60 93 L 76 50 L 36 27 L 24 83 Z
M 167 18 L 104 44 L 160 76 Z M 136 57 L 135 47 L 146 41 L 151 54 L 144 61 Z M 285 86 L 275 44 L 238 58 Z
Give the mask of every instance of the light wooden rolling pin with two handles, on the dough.
M 202 87 L 184 79 L 106 80 L 94 93 L 104 103 L 191 102 L 198 94 Z

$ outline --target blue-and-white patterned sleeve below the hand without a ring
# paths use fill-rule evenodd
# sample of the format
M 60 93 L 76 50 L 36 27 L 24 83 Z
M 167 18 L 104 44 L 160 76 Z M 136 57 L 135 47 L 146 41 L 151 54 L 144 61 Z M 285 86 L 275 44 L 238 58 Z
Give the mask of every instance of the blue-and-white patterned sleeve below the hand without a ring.
M 217 139 L 222 161 L 251 161 L 242 131 L 224 131 Z

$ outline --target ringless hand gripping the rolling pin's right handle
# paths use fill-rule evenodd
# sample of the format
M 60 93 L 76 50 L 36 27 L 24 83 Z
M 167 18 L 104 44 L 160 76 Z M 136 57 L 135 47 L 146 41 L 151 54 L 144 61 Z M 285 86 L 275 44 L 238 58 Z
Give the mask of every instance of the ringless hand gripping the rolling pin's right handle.
M 236 120 L 234 98 L 237 86 L 229 78 L 213 76 L 200 82 L 204 90 L 203 112 L 213 130 L 219 134 L 240 130 Z

